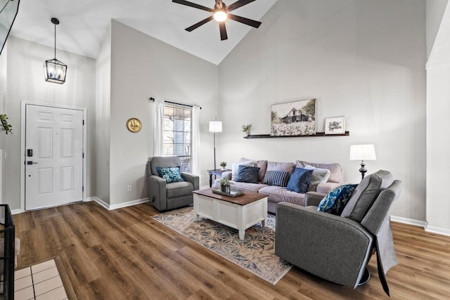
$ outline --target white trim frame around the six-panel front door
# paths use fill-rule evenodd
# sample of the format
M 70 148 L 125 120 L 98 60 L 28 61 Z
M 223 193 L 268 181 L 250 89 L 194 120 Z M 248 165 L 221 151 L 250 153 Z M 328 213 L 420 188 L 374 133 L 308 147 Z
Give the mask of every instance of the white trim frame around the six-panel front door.
M 86 107 L 74 107 L 74 106 L 66 106 L 66 105 L 56 105 L 49 103 L 39 103 L 32 101 L 21 101 L 20 103 L 20 212 L 25 211 L 25 123 L 26 123 L 26 107 L 27 105 L 38 105 L 38 106 L 46 106 L 46 107 L 54 107 L 54 108 L 65 108 L 69 110 L 81 110 L 83 112 L 84 126 L 83 126 L 83 201 L 86 200 L 86 190 L 87 190 L 87 109 Z

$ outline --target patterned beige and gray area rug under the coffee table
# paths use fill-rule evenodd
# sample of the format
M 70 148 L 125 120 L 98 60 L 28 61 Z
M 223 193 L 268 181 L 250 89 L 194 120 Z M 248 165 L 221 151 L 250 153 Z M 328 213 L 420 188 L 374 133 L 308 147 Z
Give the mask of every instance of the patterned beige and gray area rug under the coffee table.
M 192 207 L 169 211 L 153 219 L 181 233 L 224 259 L 257 275 L 272 285 L 288 273 L 292 265 L 275 254 L 275 216 L 268 215 L 266 227 L 261 224 L 245 230 L 239 240 L 238 230 L 214 221 L 194 221 Z

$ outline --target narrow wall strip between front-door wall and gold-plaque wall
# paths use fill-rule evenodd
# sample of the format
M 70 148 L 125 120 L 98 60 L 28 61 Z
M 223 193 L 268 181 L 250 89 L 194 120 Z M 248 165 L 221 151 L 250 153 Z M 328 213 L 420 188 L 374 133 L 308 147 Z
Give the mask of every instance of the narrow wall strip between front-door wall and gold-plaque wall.
M 111 27 L 96 59 L 96 152 L 94 195 L 110 203 Z

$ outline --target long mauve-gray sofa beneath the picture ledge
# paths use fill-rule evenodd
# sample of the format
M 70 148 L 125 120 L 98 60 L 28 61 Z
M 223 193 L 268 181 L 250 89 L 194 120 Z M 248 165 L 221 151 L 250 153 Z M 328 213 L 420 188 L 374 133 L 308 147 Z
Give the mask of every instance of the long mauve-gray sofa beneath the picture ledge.
M 250 162 L 250 164 L 249 164 Z M 326 182 L 319 183 L 319 185 L 310 186 L 309 190 L 328 194 L 333 188 L 342 184 L 343 181 L 343 171 L 340 164 L 317 164 L 313 162 L 305 162 L 302 160 L 297 160 L 293 162 L 269 162 L 267 160 L 252 160 L 241 158 L 238 164 L 246 164 L 252 167 L 259 167 L 259 183 L 247 183 L 247 182 L 236 182 L 233 177 L 232 171 L 226 171 L 222 174 L 222 178 L 229 178 L 231 183 L 233 183 L 232 188 L 238 188 L 240 190 L 250 190 L 252 192 L 262 193 L 268 195 L 267 211 L 271 214 L 276 214 L 276 204 L 280 202 L 288 202 L 297 205 L 304 206 L 304 193 L 296 193 L 288 190 L 285 187 L 277 185 L 267 185 L 262 183 L 266 171 L 288 171 L 289 174 L 293 174 L 295 167 L 304 168 L 307 166 L 316 167 L 320 169 L 330 170 L 330 177 Z M 214 181 L 214 186 L 219 185 L 219 179 Z

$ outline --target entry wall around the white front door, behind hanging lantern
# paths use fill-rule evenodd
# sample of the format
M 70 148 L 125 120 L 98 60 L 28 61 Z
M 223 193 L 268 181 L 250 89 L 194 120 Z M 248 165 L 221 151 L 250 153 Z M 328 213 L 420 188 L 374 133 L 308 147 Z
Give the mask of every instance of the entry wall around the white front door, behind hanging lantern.
M 2 56 L 4 53 L 2 53 Z M 8 37 L 6 113 L 13 125 L 13 134 L 6 141 L 6 203 L 20 209 L 20 103 L 30 101 L 87 108 L 87 126 L 94 124 L 95 60 L 65 51 L 56 51 L 58 60 L 68 65 L 65 84 L 44 81 L 42 65 L 53 58 L 53 48 L 24 39 Z M 88 130 L 85 157 L 87 159 L 86 195 L 91 196 L 91 176 L 94 157 L 94 131 Z M 23 164 L 23 162 L 22 162 Z M 24 209 L 22 207 L 22 209 Z

